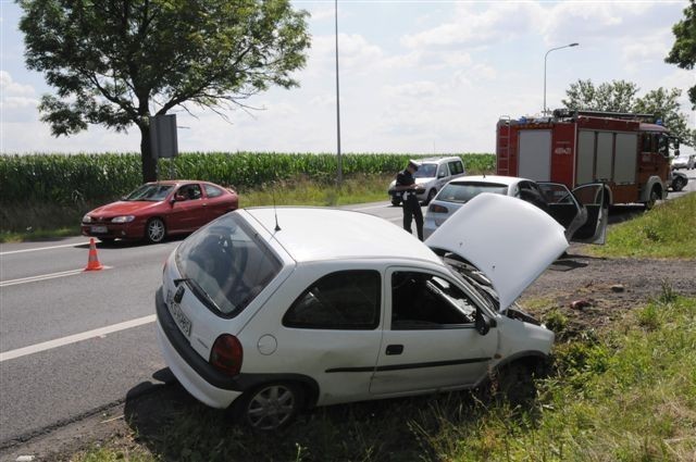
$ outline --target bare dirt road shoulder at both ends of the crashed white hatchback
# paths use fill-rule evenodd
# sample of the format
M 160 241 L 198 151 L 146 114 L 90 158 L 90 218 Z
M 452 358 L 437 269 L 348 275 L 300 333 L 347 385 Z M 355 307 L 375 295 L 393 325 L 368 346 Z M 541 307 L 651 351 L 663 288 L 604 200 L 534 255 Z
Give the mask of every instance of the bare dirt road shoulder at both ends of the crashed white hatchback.
M 535 304 L 540 316 L 556 310 L 569 320 L 567 332 L 601 329 L 644 307 L 667 287 L 679 295 L 696 296 L 696 260 L 634 260 L 593 258 L 585 247 L 572 246 L 530 287 L 521 303 Z M 562 338 L 559 340 L 563 340 Z M 166 380 L 170 382 L 170 380 Z M 172 410 L 201 405 L 177 384 L 159 385 L 149 392 L 79 422 L 0 451 L 1 461 L 29 455 L 38 461 L 69 461 L 73 454 L 108 444 L 124 452 L 147 451 L 140 434 L 157 433 Z M 159 416 L 159 417 L 158 417 Z M 22 459 L 20 459 L 22 460 Z

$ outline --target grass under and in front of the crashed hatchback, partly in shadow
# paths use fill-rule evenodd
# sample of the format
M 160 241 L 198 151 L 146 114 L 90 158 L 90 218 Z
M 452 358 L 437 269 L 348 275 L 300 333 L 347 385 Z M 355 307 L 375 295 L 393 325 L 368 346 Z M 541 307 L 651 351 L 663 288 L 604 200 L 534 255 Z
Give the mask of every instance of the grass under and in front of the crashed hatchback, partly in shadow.
M 191 398 L 149 430 L 134 420 L 127 448 L 122 436 L 71 460 L 692 461 L 696 298 L 666 287 L 599 335 L 557 344 L 536 389 L 524 404 L 452 392 L 322 408 L 276 435 Z

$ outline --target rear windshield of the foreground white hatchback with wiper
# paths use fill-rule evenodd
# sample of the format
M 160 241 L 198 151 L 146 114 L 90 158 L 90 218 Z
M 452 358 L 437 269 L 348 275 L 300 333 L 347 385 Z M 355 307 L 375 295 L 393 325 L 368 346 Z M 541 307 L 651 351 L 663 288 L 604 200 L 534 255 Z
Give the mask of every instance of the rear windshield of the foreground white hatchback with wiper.
M 240 313 L 282 267 L 237 213 L 187 238 L 176 252 L 176 264 L 201 302 L 224 317 Z

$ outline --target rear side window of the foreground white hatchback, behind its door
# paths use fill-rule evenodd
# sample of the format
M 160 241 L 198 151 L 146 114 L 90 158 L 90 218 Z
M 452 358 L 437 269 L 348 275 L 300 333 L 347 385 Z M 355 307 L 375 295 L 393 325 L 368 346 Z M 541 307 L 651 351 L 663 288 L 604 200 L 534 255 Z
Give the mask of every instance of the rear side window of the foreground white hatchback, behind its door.
M 297 328 L 362 330 L 380 324 L 382 277 L 372 270 L 328 274 L 309 286 L 283 316 Z

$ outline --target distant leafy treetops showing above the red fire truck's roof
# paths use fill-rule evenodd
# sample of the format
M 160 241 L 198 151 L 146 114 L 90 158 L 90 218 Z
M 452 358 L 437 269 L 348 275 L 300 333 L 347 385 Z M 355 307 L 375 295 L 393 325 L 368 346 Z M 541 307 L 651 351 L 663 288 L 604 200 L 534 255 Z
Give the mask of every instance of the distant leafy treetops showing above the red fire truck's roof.
M 612 80 L 595 86 L 592 80 L 577 80 L 566 90 L 568 99 L 563 105 L 570 110 L 632 112 L 651 114 L 662 121 L 672 135 L 682 139 L 685 145 L 696 146 L 696 130 L 688 128 L 686 115 L 680 112 L 679 98 L 682 90 L 662 87 L 636 97 L 641 89 L 626 80 Z

